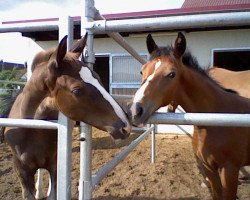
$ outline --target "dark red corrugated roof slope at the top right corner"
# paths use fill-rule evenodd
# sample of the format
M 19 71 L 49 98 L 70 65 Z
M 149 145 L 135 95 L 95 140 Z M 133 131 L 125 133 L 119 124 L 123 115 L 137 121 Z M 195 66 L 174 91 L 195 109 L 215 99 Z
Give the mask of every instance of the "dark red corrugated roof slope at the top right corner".
M 249 0 L 185 0 L 182 8 L 213 7 L 249 4 Z

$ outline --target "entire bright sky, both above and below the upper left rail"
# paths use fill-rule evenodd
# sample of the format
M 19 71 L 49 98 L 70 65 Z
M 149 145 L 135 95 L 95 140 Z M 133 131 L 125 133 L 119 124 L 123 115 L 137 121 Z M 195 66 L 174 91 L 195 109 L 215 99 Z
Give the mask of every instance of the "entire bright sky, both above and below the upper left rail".
M 0 0 L 2 21 L 80 16 L 83 0 Z M 126 13 L 180 8 L 184 0 L 95 0 L 101 14 Z M 13 48 L 13 45 L 18 48 Z M 0 60 L 24 63 L 30 51 L 39 50 L 30 39 L 18 34 L 0 34 Z

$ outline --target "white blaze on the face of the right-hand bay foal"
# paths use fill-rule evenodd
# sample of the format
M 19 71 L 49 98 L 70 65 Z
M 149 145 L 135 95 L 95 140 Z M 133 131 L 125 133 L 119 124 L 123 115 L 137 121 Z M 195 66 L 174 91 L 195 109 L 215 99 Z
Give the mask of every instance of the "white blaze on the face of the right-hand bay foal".
M 155 64 L 154 72 L 147 78 L 145 83 L 136 91 L 134 99 L 133 99 L 133 104 L 131 106 L 132 117 L 136 115 L 136 107 L 135 107 L 136 103 L 139 103 L 144 97 L 144 92 L 146 88 L 148 87 L 149 82 L 154 78 L 155 72 L 160 66 L 161 66 L 161 60 L 158 60 L 157 63 Z

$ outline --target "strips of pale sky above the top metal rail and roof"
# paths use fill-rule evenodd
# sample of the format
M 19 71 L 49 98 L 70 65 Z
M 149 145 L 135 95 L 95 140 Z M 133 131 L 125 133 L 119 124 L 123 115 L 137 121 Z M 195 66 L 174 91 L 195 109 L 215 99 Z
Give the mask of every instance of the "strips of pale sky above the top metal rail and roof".
M 0 20 L 80 16 L 84 0 L 0 0 Z M 180 8 L 184 0 L 95 0 L 101 14 Z

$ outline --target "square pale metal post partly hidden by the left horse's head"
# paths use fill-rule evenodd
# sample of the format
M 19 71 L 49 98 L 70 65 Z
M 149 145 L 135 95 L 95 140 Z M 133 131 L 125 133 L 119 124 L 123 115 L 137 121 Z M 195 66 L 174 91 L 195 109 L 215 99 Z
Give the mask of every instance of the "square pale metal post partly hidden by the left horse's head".
M 59 41 L 68 35 L 68 49 L 73 43 L 73 20 L 70 17 L 60 18 Z M 71 154 L 73 121 L 61 112 L 58 115 L 57 144 L 57 199 L 71 199 Z

